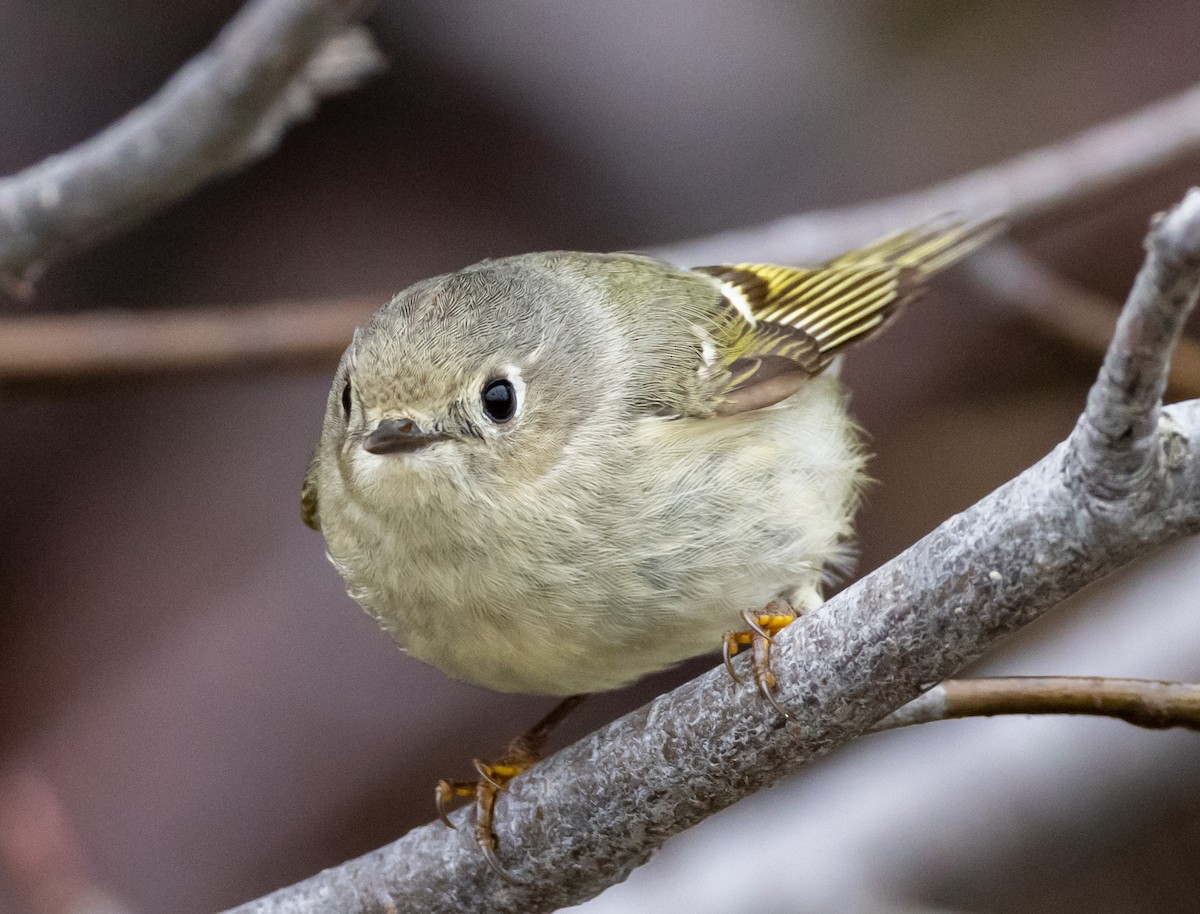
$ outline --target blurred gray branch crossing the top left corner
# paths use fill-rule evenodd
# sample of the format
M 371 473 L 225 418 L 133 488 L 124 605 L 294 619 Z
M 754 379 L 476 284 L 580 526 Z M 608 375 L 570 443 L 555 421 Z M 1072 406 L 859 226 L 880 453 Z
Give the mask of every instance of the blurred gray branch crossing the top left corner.
M 0 287 L 275 149 L 317 102 L 382 60 L 371 0 L 254 0 L 150 101 L 67 152 L 0 180 Z

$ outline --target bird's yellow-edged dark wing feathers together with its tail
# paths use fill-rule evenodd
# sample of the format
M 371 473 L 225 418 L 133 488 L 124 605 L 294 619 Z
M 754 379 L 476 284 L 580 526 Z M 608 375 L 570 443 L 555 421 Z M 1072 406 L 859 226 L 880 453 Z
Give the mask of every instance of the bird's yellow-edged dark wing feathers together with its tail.
M 724 296 L 710 338 L 714 365 L 702 369 L 724 372 L 714 411 L 744 413 L 790 397 L 997 230 L 995 221 L 930 223 L 822 266 L 695 267 L 714 277 Z

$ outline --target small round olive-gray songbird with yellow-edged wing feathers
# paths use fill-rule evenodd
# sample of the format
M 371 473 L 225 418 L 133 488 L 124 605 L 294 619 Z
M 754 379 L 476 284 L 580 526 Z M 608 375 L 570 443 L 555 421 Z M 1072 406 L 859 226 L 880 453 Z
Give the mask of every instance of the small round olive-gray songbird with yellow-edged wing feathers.
M 304 519 L 349 595 L 457 679 L 574 696 L 752 644 L 769 698 L 769 636 L 846 563 L 865 479 L 827 369 L 991 229 L 815 267 L 551 252 L 420 282 L 342 357 Z M 476 765 L 493 864 L 494 788 L 538 739 Z

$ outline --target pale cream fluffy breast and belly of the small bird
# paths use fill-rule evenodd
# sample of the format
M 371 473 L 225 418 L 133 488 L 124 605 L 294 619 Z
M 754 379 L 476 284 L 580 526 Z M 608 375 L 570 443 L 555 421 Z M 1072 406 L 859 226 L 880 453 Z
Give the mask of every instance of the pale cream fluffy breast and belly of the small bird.
M 347 505 L 350 535 L 326 536 L 348 591 L 455 678 L 570 694 L 718 649 L 743 609 L 811 593 L 845 555 L 863 458 L 834 379 L 772 409 L 629 431 L 503 512 Z

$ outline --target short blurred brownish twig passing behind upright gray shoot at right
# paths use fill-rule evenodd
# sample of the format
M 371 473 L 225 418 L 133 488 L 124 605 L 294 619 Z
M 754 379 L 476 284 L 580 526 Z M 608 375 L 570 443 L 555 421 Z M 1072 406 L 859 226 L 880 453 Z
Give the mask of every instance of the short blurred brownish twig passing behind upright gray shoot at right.
M 1058 276 L 1014 245 L 990 245 L 966 269 L 989 295 L 1080 351 L 1106 351 L 1121 309 L 1104 296 Z M 1168 386 L 1178 398 L 1200 397 L 1200 343 L 1180 339 Z

